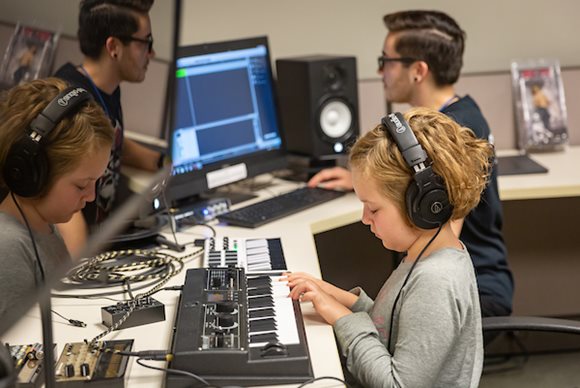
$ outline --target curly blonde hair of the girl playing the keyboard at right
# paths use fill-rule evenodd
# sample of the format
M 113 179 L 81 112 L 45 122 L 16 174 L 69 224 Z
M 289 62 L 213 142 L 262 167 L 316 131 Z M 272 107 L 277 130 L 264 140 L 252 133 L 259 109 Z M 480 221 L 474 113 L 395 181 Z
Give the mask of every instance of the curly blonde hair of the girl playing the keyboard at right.
M 413 108 L 404 117 L 431 159 L 433 171 L 445 181 L 453 206 L 451 219 L 467 216 L 487 185 L 493 146 L 477 138 L 469 128 L 431 109 Z M 374 179 L 382 194 L 407 214 L 405 192 L 412 172 L 382 124 L 357 140 L 350 150 L 349 163 Z

